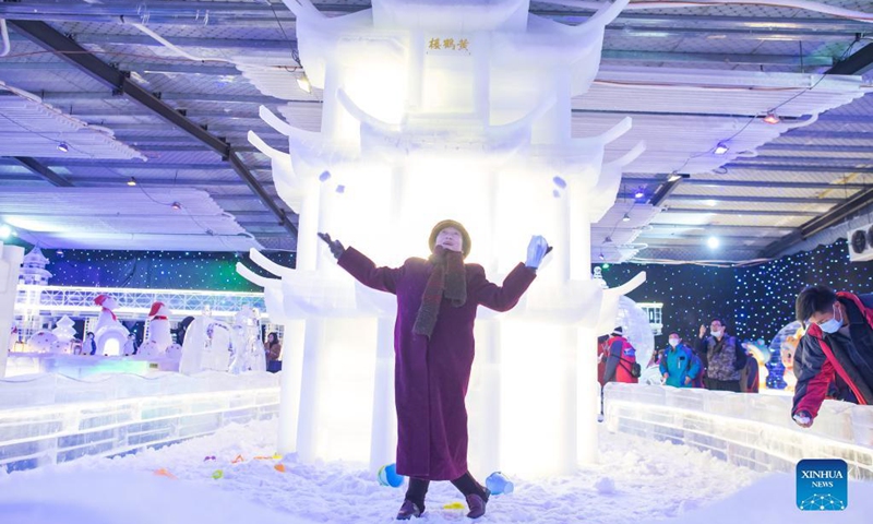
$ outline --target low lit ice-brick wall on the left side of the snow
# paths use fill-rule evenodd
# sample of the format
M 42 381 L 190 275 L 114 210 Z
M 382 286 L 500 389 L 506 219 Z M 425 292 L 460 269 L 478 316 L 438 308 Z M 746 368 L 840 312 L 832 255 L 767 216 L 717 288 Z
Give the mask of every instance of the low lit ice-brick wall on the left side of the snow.
M 206 436 L 278 409 L 278 377 L 59 374 L 0 380 L 0 467 L 29 469 Z

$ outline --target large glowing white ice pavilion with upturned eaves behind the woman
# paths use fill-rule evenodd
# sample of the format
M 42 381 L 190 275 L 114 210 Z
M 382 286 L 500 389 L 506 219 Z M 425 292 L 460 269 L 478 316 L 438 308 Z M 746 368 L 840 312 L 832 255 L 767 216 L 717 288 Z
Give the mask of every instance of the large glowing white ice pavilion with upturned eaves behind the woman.
M 571 102 L 588 91 L 603 28 L 627 0 L 577 26 L 530 14 L 529 0 L 373 0 L 337 17 L 308 0 L 285 3 L 308 80 L 322 90 L 321 131 L 261 108 L 288 136 L 285 153 L 249 133 L 299 211 L 297 267 L 258 252 L 276 278 L 239 266 L 285 324 L 280 451 L 374 469 L 394 462 L 394 297 L 356 284 L 316 233 L 397 266 L 427 255 L 430 228 L 453 218 L 473 236 L 467 261 L 493 282 L 524 260 L 531 235 L 554 246 L 518 307 L 479 310 L 471 471 L 561 474 L 596 461 L 596 336 L 645 275 L 613 289 L 591 282 L 590 225 L 644 145 L 605 163 L 631 120 L 573 138 Z

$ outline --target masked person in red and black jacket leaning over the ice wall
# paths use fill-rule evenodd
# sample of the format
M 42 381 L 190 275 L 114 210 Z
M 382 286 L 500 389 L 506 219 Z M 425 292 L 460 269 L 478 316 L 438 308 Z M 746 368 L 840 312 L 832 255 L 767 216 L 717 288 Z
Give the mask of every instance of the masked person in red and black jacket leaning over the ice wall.
M 794 421 L 812 426 L 828 389 L 837 400 L 873 404 L 873 295 L 811 286 L 796 311 L 806 333 L 794 352 Z

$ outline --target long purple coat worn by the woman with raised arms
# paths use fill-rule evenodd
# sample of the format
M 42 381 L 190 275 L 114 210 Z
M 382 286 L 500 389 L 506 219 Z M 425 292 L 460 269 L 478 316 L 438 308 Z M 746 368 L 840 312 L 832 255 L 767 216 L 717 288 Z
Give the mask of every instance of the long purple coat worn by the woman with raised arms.
M 453 480 L 467 472 L 467 408 L 464 397 L 475 354 L 476 308 L 512 309 L 536 272 L 518 264 L 498 286 L 478 264 L 465 264 L 467 301 L 443 299 L 430 341 L 412 333 L 421 295 L 433 265 L 408 259 L 400 267 L 376 267 L 354 248 L 339 265 L 361 284 L 397 296 L 394 324 L 394 397 L 397 406 L 397 473 L 427 480 Z

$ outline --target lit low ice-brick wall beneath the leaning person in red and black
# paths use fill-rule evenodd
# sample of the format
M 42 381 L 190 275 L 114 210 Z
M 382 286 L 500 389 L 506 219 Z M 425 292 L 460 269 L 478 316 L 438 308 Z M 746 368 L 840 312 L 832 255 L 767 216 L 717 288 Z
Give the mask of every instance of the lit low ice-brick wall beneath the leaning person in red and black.
M 756 471 L 793 473 L 802 458 L 842 458 L 849 476 L 873 479 L 873 406 L 825 401 L 802 429 L 788 395 L 615 383 L 603 395 L 613 432 L 708 450 Z

